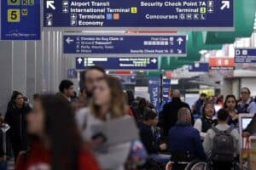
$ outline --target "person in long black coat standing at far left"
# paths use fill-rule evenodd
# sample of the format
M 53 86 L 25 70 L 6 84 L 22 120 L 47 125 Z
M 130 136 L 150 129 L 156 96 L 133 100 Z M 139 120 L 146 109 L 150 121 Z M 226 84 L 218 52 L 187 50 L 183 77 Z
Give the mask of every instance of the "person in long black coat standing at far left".
M 16 160 L 20 151 L 28 149 L 26 115 L 32 109 L 25 104 L 24 96 L 21 93 L 13 94 L 11 101 L 12 105 L 9 106 L 5 114 L 4 122 L 10 126 L 9 138 Z

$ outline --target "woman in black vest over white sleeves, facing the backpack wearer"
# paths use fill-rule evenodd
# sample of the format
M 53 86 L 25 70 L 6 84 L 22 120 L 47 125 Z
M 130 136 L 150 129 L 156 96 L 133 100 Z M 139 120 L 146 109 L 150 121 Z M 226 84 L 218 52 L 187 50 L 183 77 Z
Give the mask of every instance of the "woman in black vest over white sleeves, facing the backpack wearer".
M 195 128 L 200 132 L 202 138 L 207 134 L 207 131 L 216 126 L 218 121 L 214 119 L 215 109 L 212 102 L 206 102 L 202 108 L 202 117 L 195 121 Z

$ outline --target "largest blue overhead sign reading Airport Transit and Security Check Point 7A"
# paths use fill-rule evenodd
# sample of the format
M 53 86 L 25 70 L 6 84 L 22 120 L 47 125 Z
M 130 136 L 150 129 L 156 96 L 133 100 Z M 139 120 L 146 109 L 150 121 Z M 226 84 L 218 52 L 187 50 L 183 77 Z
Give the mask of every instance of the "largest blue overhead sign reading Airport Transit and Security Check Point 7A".
M 44 27 L 234 30 L 234 0 L 44 0 Z

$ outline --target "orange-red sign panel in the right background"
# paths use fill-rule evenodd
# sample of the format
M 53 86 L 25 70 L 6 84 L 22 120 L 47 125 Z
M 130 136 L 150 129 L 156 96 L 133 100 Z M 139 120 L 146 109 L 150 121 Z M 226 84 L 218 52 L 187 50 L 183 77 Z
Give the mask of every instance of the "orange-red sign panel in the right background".
M 234 70 L 236 64 L 234 58 L 210 58 L 209 66 L 211 70 Z

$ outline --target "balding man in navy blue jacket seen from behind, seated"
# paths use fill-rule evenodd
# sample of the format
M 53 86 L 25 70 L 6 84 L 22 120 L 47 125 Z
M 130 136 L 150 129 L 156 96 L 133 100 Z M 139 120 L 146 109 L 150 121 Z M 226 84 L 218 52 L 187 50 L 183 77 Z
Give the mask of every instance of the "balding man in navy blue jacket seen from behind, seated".
M 201 143 L 200 134 L 191 126 L 190 122 L 191 112 L 189 109 L 180 109 L 177 113 L 177 123 L 169 131 L 168 149 L 172 154 L 189 152 L 192 159 L 204 160 L 206 155 Z

